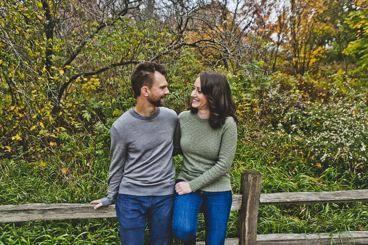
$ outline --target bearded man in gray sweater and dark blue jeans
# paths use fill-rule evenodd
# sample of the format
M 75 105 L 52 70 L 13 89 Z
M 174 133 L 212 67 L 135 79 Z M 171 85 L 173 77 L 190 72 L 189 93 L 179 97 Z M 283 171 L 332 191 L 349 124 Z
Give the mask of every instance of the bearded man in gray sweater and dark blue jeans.
M 169 90 L 166 69 L 141 62 L 131 74 L 137 106 L 113 123 L 107 197 L 95 209 L 116 201 L 121 244 L 142 245 L 146 219 L 152 245 L 171 244 L 175 169 L 172 160 L 177 115 L 162 107 Z

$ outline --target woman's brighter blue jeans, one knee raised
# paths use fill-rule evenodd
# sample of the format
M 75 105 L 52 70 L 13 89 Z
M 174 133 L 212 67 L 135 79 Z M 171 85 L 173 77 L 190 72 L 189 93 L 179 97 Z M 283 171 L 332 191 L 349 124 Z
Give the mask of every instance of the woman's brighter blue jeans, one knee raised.
M 180 182 L 182 180 L 177 180 Z M 184 195 L 174 194 L 173 233 L 180 241 L 195 238 L 197 232 L 198 212 L 205 218 L 206 245 L 223 245 L 225 243 L 227 221 L 232 203 L 231 191 L 197 190 Z

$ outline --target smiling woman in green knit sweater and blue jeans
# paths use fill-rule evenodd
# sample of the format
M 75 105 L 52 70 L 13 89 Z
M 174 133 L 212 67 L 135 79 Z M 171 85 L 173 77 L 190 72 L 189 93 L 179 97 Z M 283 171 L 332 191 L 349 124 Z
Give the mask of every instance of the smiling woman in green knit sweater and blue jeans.
M 191 97 L 190 111 L 179 114 L 174 135 L 174 154 L 183 155 L 183 163 L 175 185 L 173 233 L 184 244 L 195 244 L 201 208 L 206 244 L 223 245 L 232 201 L 236 107 L 229 83 L 217 72 L 199 74 Z

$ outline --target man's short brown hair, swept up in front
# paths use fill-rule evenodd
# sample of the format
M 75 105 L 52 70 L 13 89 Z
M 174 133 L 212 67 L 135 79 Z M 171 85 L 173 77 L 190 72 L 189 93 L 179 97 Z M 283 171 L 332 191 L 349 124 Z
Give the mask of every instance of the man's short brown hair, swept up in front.
M 141 95 L 142 87 L 146 86 L 151 89 L 153 81 L 155 80 L 155 71 L 160 72 L 162 75 L 166 75 L 166 68 L 156 62 L 145 61 L 134 67 L 130 75 L 130 82 L 135 98 Z

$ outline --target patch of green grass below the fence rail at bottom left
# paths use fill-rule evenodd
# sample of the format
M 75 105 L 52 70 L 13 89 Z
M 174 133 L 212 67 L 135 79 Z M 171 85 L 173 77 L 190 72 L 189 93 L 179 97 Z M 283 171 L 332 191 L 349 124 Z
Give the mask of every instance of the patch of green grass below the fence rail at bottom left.
M 47 220 L 1 225 L 0 244 L 119 244 L 116 219 Z

